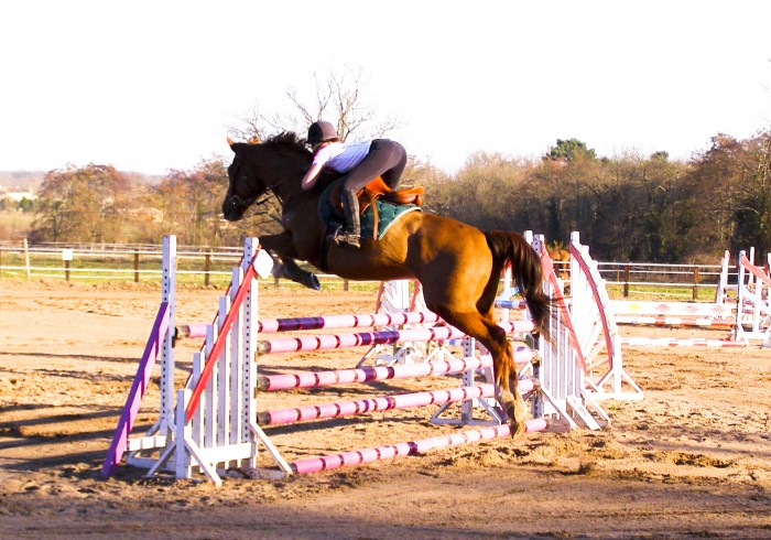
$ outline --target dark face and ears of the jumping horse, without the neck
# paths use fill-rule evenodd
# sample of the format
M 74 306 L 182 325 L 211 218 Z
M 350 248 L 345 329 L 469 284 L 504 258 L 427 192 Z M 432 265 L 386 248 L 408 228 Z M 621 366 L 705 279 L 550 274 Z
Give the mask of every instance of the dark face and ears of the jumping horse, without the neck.
M 249 142 L 232 142 L 228 139 L 228 143 L 236 155 L 228 166 L 228 191 L 222 201 L 222 215 L 228 222 L 238 222 L 270 185 L 260 176 L 256 161 L 247 159 L 250 147 L 260 141 L 252 139 Z

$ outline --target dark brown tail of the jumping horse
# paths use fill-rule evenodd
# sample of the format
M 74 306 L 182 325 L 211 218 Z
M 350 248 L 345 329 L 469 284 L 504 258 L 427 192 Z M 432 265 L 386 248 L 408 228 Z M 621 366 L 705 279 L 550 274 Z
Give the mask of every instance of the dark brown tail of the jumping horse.
M 485 237 L 493 259 L 490 285 L 495 284 L 497 289 L 501 272 L 511 266 L 514 284 L 528 304 L 530 315 L 535 323 L 535 331 L 549 339 L 551 300 L 543 292 L 541 257 L 522 235 L 517 233 L 487 230 Z

